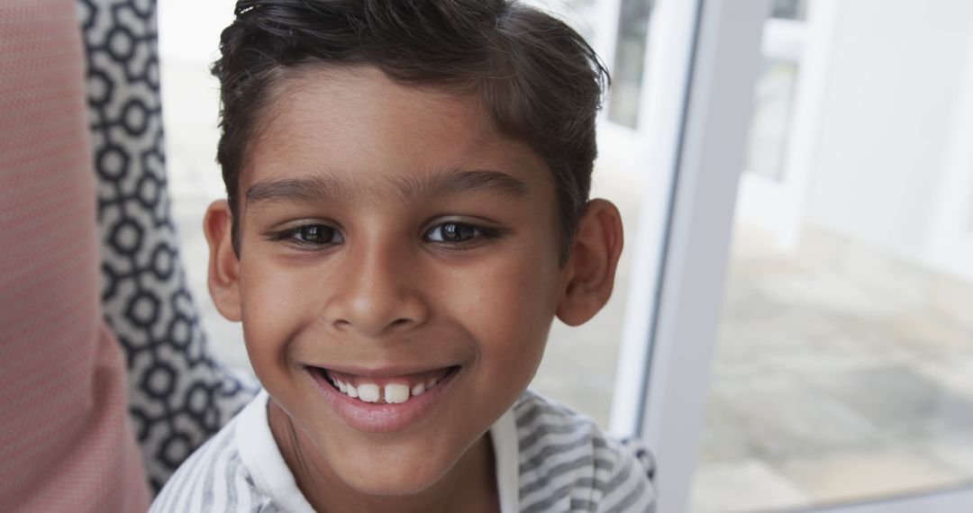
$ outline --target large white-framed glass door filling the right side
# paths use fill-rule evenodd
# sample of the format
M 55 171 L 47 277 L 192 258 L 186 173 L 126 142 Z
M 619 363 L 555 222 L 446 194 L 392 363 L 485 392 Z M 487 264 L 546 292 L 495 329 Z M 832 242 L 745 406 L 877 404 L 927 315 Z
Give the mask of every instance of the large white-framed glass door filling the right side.
M 787 3 L 807 16 L 793 72 L 767 64 Z M 636 425 L 659 510 L 973 510 L 973 258 L 943 257 L 968 240 L 973 4 L 703 0 L 695 16 L 688 85 L 653 83 L 685 87 L 686 115 L 653 321 L 631 330 L 650 341 Z M 743 183 L 793 173 L 779 244 Z

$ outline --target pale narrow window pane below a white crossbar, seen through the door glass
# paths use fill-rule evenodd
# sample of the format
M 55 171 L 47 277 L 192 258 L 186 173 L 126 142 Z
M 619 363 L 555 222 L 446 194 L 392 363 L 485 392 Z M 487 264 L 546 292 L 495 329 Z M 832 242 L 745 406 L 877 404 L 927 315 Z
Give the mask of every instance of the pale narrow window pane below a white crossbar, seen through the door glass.
M 757 80 L 744 169 L 779 180 L 797 82 L 797 63 L 768 60 Z

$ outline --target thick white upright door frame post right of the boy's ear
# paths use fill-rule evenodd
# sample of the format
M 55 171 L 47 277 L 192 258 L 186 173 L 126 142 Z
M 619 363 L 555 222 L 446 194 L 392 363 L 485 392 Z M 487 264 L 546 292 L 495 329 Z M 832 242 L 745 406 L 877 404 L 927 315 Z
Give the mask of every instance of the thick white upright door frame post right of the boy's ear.
M 681 116 L 656 120 L 659 125 L 653 122 L 658 126 L 653 130 L 657 136 L 667 131 L 679 134 L 672 147 L 652 153 L 658 158 L 653 164 L 659 172 L 674 177 L 667 189 L 670 209 L 663 232 L 664 260 L 657 303 L 648 310 L 656 321 L 627 331 L 623 352 L 638 340 L 637 327 L 642 327 L 642 340 L 651 342 L 650 355 L 646 355 L 647 389 L 637 428 L 659 462 L 659 511 L 686 511 L 709 396 L 709 362 L 754 80 L 761 64 L 762 27 L 770 3 L 700 0 L 692 7 L 686 7 L 689 2 L 667 3 L 668 9 L 661 3 L 656 13 L 656 26 L 691 27 L 690 71 L 652 82 L 659 95 L 681 94 L 684 101 L 678 105 L 684 107 Z M 669 35 L 673 40 L 652 50 L 663 53 L 686 45 L 686 32 Z M 649 143 L 667 143 L 658 139 Z M 636 261 L 643 264 L 641 259 Z M 636 284 L 631 287 L 639 288 Z M 629 306 L 630 315 L 638 317 L 637 303 Z M 643 310 L 641 315 L 645 313 Z M 627 381 L 621 372 L 619 380 L 619 386 Z

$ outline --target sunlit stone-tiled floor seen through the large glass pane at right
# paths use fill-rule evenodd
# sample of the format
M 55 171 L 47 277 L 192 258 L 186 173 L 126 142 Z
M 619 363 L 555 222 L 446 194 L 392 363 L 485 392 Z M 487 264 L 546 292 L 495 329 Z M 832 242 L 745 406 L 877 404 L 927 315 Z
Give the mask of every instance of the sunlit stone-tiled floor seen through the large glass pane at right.
M 738 227 L 694 511 L 973 485 L 973 288 L 806 230 Z

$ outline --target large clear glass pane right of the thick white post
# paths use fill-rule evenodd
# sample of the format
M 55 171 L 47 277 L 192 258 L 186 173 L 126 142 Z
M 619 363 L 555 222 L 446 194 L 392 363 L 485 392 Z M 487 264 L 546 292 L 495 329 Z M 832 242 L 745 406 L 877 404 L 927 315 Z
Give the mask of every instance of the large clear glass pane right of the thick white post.
M 973 27 L 950 20 L 973 19 L 973 4 L 881 2 L 877 20 L 879 5 L 836 3 L 816 47 L 830 50 L 802 52 L 826 65 L 771 62 L 758 85 L 751 162 L 762 123 L 804 112 L 785 106 L 800 90 L 815 112 L 768 140 L 786 140 L 788 124 L 808 137 L 779 146 L 808 149 L 795 163 L 807 176 L 775 174 L 761 191 L 777 210 L 735 220 L 694 512 L 973 487 L 973 281 L 940 267 L 928 236 L 973 86 Z M 752 179 L 742 174 L 740 201 L 757 197 L 744 193 Z

